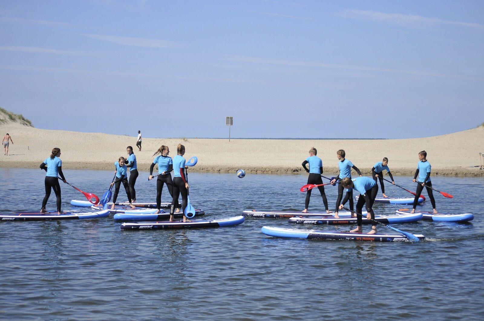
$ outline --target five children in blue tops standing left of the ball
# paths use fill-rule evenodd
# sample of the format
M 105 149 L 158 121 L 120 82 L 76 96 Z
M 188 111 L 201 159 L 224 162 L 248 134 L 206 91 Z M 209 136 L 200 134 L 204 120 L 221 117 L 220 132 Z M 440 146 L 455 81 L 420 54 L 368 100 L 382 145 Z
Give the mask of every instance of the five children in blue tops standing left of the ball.
M 124 190 L 126 190 L 126 195 L 128 196 L 129 206 L 135 208 L 133 203 L 136 203 L 136 178 L 138 177 L 138 170 L 136 164 L 136 156 L 133 153 L 133 147 L 128 146 L 126 148 L 128 153 L 128 157 L 120 157 L 118 161 L 114 162 L 114 166 L 116 167 L 115 177 L 111 183 L 111 186 L 115 187 L 114 195 L 113 195 L 113 204 L 111 209 L 114 209 L 114 204 L 116 204 L 116 200 L 118 198 L 118 193 L 121 187 L 121 183 L 124 186 Z M 185 211 L 185 207 L 188 204 L 188 181 L 186 179 L 186 175 L 184 174 L 185 162 L 186 160 L 183 158 L 185 154 L 185 146 L 179 144 L 177 147 L 177 156 L 172 160 L 171 157 L 168 157 L 170 150 L 167 146 L 161 146 L 158 150 L 153 154 L 153 156 L 160 154 L 159 156 L 155 157 L 153 163 L 150 167 L 150 176 L 148 180 L 151 180 L 153 177 L 158 176 L 156 181 L 156 214 L 160 213 L 161 207 L 161 192 L 163 189 L 163 185 L 166 184 L 168 188 L 168 192 L 172 197 L 171 207 L 170 207 L 170 221 L 174 221 L 173 218 L 174 213 L 180 212 L 180 205 L 178 203 L 178 197 L 181 194 L 181 211 Z M 47 204 L 47 200 L 49 199 L 51 189 L 54 190 L 57 197 L 57 211 L 58 214 L 61 214 L 61 187 L 59 185 L 59 178 L 62 179 L 64 183 L 67 183 L 65 177 L 62 173 L 62 160 L 61 156 L 61 149 L 54 148 L 52 149 L 52 153 L 50 158 L 44 160 L 42 164 L 40 164 L 40 168 L 47 172 L 45 176 L 45 197 L 42 202 L 42 209 L 41 213 L 46 213 L 45 205 Z M 153 167 L 155 164 L 158 164 L 158 175 L 153 176 Z M 128 180 L 128 167 L 130 169 L 130 175 Z M 171 179 L 170 172 L 173 171 L 173 180 Z M 60 177 L 59 177 L 60 176 Z M 183 221 L 189 221 L 185 216 L 183 216 Z

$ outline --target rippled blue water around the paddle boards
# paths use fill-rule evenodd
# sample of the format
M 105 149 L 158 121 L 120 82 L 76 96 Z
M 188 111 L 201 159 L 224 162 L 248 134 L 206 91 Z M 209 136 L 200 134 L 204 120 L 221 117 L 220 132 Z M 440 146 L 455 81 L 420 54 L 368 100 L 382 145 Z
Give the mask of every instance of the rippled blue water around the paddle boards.
M 101 196 L 112 171 L 64 169 L 67 180 Z M 0 168 L 2 210 L 39 210 L 41 170 Z M 329 174 L 328 174 L 329 175 Z M 138 201 L 156 184 L 141 172 Z M 189 173 L 190 198 L 206 218 L 246 209 L 302 209 L 305 175 Z M 397 184 L 414 190 L 409 176 Z M 2 320 L 482 320 L 484 178 L 432 177 L 444 212 L 471 223 L 394 226 L 420 243 L 276 239 L 263 225 L 304 228 L 285 219 L 246 219 L 219 229 L 121 231 L 110 218 L 0 222 Z M 408 196 L 391 187 L 387 194 Z M 61 184 L 63 209 L 83 195 Z M 327 188 L 331 206 L 336 188 Z M 164 190 L 162 201 L 167 201 Z M 424 192 L 426 195 L 426 192 Z M 121 189 L 120 200 L 126 195 Z M 400 207 L 403 207 L 400 205 Z M 422 206 L 431 210 L 430 202 Z M 52 193 L 48 209 L 55 209 Z M 313 193 L 310 209 L 321 209 Z M 377 204 L 390 214 L 397 205 Z M 348 230 L 348 226 L 318 226 Z M 366 231 L 368 226 L 363 226 Z M 378 225 L 379 232 L 393 230 Z

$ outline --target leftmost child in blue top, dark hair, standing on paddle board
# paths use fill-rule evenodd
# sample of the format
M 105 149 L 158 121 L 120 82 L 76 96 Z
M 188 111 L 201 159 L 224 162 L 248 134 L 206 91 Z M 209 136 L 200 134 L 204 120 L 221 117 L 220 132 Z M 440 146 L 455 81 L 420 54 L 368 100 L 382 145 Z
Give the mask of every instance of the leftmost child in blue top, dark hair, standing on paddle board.
M 8 135 L 8 134 L 7 134 Z M 47 204 L 47 200 L 50 196 L 51 189 L 54 190 L 56 193 L 57 198 L 57 214 L 61 215 L 61 186 L 59 185 L 59 176 L 64 183 L 67 183 L 65 180 L 64 174 L 62 173 L 62 160 L 61 160 L 61 149 L 60 148 L 53 148 L 52 153 L 50 154 L 49 158 L 46 158 L 42 164 L 40 164 L 40 169 L 45 170 L 47 174 L 45 175 L 45 196 L 44 200 L 42 201 L 42 208 L 40 210 L 41 213 L 47 213 L 45 210 L 45 205 Z

